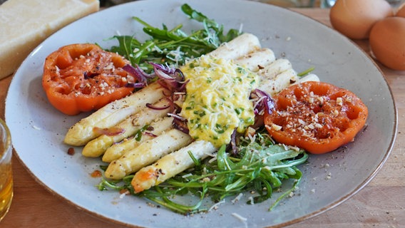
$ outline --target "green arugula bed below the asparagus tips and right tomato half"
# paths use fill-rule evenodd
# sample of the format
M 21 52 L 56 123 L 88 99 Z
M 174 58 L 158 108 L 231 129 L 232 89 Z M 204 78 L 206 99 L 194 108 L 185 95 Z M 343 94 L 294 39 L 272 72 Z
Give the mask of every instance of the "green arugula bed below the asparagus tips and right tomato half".
M 207 210 L 201 208 L 202 200 L 207 196 L 212 202 L 219 202 L 240 192 L 256 192 L 247 204 L 260 203 L 270 199 L 274 190 L 282 186 L 283 180 L 294 180 L 292 187 L 269 207 L 271 210 L 294 191 L 302 177 L 302 172 L 296 166 L 306 162 L 308 155 L 304 150 L 292 150 L 284 145 L 262 144 L 264 141 L 261 139 L 269 136 L 258 135 L 258 140 L 240 145 L 238 155 L 228 153 L 224 145 L 218 150 L 214 162 L 195 161 L 196 166 L 192 170 L 186 170 L 153 189 L 134 194 L 130 182 L 118 186 L 106 180 L 101 182 L 99 189 L 128 189 L 134 195 L 146 197 L 175 212 L 193 214 Z M 198 202 L 193 205 L 175 202 L 175 195 L 188 193 L 198 195 Z

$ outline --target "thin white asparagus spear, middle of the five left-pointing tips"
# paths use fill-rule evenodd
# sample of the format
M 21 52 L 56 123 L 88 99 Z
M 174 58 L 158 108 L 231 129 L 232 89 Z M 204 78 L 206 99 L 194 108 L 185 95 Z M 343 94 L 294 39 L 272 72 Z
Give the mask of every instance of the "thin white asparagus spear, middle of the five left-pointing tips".
M 128 140 L 125 139 L 123 142 L 111 145 L 108 147 L 106 152 L 103 155 L 103 162 L 112 162 L 120 158 L 128 150 L 140 145 L 142 142 L 155 138 L 158 135 L 165 133 L 165 131 L 173 128 L 173 117 L 165 117 L 155 120 L 153 123 L 150 123 L 148 129 L 145 130 L 145 133 L 141 133 L 140 138 L 132 137 Z

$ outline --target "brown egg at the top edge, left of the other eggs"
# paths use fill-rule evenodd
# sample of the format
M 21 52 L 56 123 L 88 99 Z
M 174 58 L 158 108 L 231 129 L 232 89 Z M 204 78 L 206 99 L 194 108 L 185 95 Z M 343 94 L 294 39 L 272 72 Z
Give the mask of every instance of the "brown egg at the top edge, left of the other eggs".
M 332 26 L 349 38 L 369 37 L 371 27 L 394 11 L 385 0 L 337 0 L 330 9 Z

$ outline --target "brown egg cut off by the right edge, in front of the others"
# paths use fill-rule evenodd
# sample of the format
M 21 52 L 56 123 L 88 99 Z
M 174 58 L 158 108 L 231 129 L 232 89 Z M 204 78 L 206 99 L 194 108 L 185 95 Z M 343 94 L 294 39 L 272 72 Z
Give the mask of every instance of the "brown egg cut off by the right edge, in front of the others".
M 371 28 L 369 42 L 380 63 L 405 71 L 405 18 L 396 16 L 378 21 Z

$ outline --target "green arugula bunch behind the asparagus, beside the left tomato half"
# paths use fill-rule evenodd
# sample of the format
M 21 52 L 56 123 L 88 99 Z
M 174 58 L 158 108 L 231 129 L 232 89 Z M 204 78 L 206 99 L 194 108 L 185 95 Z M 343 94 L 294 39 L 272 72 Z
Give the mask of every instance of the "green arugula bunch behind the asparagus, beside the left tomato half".
M 113 36 L 110 39 L 116 39 L 118 46 L 111 47 L 109 51 L 119 53 L 133 66 L 138 65 L 147 73 L 151 73 L 153 66 L 150 66 L 149 62 L 166 63 L 169 66 L 178 67 L 191 58 L 197 58 L 215 50 L 221 43 L 230 41 L 241 33 L 230 29 L 224 35 L 222 25 L 195 11 L 188 4 L 183 4 L 181 9 L 190 19 L 200 22 L 202 28 L 190 33 L 183 31 L 181 24 L 170 30 L 164 24 L 162 28 L 156 28 L 137 16 L 133 16 L 135 21 L 144 26 L 143 32 L 150 38 L 146 41 L 139 41 L 135 36 Z

